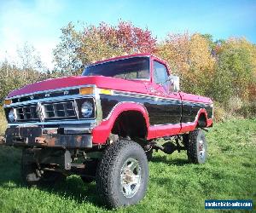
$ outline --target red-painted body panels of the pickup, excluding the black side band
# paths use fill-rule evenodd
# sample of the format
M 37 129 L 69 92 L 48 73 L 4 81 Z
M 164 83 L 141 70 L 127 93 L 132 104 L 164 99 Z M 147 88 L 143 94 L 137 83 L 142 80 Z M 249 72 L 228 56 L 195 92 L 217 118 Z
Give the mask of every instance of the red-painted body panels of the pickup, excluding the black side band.
M 98 61 L 97 63 L 104 63 L 111 60 L 121 60 L 129 57 L 134 56 L 148 56 L 151 59 L 151 68 L 150 68 L 150 80 L 125 80 L 120 78 L 110 78 L 110 77 L 103 77 L 103 76 L 92 76 L 92 77 L 67 77 L 67 78 L 55 78 L 49 79 L 38 83 L 32 83 L 27 85 L 21 89 L 17 89 L 9 94 L 9 98 L 17 96 L 17 95 L 27 95 L 32 94 L 39 91 L 45 90 L 53 90 L 53 89 L 63 89 L 67 87 L 76 87 L 82 85 L 96 85 L 97 88 L 101 89 L 113 89 L 118 91 L 125 91 L 125 92 L 132 92 L 138 93 L 143 95 L 154 95 L 160 98 L 171 98 L 177 99 L 181 101 L 192 101 L 192 102 L 201 102 L 205 104 L 212 104 L 212 100 L 207 97 L 202 97 L 199 95 L 191 95 L 186 94 L 183 92 L 177 92 L 172 94 L 165 94 L 164 90 L 159 87 L 158 84 L 154 83 L 153 81 L 153 70 L 152 70 L 152 61 L 157 60 L 161 63 L 165 64 L 168 71 L 170 69 L 167 63 L 164 60 L 160 60 L 159 58 L 155 57 L 154 55 L 149 54 L 138 54 L 138 55 L 125 55 L 120 56 L 108 60 Z M 170 72 L 171 73 L 171 72 Z M 150 92 L 150 90 L 155 89 L 156 92 Z M 145 123 L 148 129 L 147 139 L 154 139 L 168 135 L 177 135 L 182 134 L 184 132 L 193 131 L 196 128 L 198 123 L 198 118 L 200 117 L 201 113 L 207 118 L 207 127 L 212 125 L 212 118 L 208 118 L 207 112 L 204 108 L 198 112 L 197 117 L 195 118 L 195 122 L 189 124 L 166 124 L 166 125 L 157 125 L 151 126 L 149 124 L 148 112 L 147 110 L 140 104 L 137 103 L 121 103 L 119 106 L 115 107 L 111 116 L 107 120 L 103 120 L 101 124 L 96 126 L 92 130 L 93 135 L 93 142 L 96 144 L 104 144 L 107 139 L 108 135 L 110 134 L 113 124 L 118 118 L 119 114 L 124 111 L 137 111 L 143 114 L 143 118 L 145 118 Z

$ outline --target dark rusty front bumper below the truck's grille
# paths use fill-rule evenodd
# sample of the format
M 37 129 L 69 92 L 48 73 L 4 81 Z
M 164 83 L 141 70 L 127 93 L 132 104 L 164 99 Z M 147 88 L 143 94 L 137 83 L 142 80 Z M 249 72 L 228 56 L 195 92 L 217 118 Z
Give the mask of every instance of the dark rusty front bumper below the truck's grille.
M 16 147 L 90 148 L 90 128 L 9 127 L 5 132 L 5 145 Z

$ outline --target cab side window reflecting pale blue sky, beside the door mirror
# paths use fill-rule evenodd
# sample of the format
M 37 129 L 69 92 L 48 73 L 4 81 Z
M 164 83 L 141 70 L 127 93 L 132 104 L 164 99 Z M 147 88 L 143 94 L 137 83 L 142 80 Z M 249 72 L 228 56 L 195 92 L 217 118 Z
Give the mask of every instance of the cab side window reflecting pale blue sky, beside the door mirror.
M 168 81 L 168 74 L 166 66 L 163 64 L 154 61 L 154 82 L 161 83 L 163 88 L 166 90 L 166 93 L 170 92 L 170 83 Z

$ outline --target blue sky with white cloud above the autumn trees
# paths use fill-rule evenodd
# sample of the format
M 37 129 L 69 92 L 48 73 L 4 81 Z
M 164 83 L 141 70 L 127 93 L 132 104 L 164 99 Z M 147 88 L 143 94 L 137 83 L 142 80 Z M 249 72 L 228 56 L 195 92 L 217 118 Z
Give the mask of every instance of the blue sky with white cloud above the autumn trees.
M 256 43 L 256 0 L 0 0 L 0 60 L 15 60 L 16 49 L 28 42 L 51 68 L 52 49 L 69 21 L 116 24 L 120 19 L 148 27 L 158 40 L 188 31 Z

